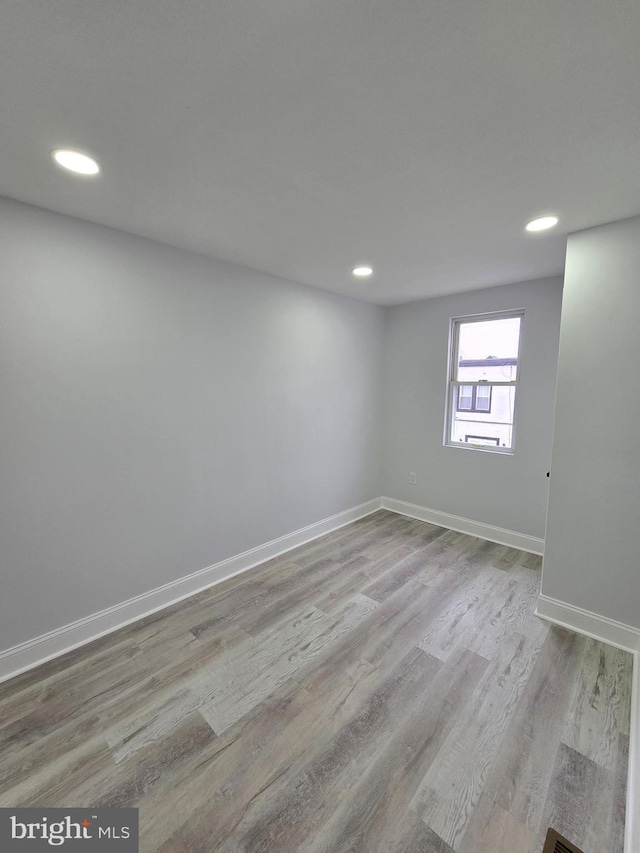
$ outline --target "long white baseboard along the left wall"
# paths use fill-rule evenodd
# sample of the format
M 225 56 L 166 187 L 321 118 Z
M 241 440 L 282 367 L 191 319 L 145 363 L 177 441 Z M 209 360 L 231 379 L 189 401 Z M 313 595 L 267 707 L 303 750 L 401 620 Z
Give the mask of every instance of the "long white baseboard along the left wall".
M 367 503 L 324 518 L 315 524 L 302 527 L 293 533 L 280 536 L 264 545 L 259 545 L 249 551 L 244 551 L 242 554 L 222 560 L 213 566 L 208 566 L 206 569 L 200 569 L 191 575 L 178 578 L 178 580 L 171 581 L 164 586 L 144 592 L 128 601 L 123 601 L 121 604 L 108 607 L 99 613 L 86 616 L 70 625 L 56 628 L 40 637 L 35 637 L 11 649 L 2 651 L 0 652 L 0 683 L 66 652 L 73 651 L 73 649 L 77 649 L 86 643 L 97 640 L 106 634 L 111 634 L 119 628 L 124 628 L 125 625 L 136 622 L 144 616 L 149 616 L 151 613 L 189 598 L 197 592 L 215 586 L 215 584 L 228 580 L 234 575 L 246 572 L 266 560 L 271 560 L 279 554 L 284 554 L 293 548 L 304 545 L 305 542 L 310 542 L 319 536 L 330 533 L 332 530 L 351 524 L 351 522 L 381 509 L 381 507 L 381 498 L 367 501 Z

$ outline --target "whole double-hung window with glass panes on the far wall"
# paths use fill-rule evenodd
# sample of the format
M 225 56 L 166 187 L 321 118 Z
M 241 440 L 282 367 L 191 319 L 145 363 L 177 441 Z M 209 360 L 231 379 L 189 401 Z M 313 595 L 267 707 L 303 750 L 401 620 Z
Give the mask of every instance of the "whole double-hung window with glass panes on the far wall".
M 512 453 L 523 311 L 451 321 L 445 444 Z

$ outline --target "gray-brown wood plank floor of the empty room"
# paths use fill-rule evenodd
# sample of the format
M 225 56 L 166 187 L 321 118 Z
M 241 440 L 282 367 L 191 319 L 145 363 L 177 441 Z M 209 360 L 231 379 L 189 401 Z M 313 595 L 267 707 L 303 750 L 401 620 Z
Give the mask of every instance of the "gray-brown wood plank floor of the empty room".
M 143 853 L 622 853 L 631 656 L 540 558 L 380 511 L 0 685 L 0 806 Z

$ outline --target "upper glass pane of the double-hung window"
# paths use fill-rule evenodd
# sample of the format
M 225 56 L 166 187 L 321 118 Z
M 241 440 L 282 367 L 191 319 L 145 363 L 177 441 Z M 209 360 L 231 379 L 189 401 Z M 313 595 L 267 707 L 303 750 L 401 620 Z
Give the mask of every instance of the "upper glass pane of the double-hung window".
M 516 378 L 520 317 L 461 321 L 458 325 L 458 381 L 505 382 Z

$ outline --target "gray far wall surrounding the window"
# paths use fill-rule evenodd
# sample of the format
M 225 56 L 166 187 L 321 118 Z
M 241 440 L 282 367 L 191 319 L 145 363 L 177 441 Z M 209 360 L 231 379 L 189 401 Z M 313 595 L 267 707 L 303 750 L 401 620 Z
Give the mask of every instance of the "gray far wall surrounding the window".
M 388 497 L 543 537 L 562 281 L 494 287 L 390 308 L 384 376 Z M 443 447 L 449 320 L 524 308 L 513 456 Z M 409 485 L 409 471 L 417 484 Z

